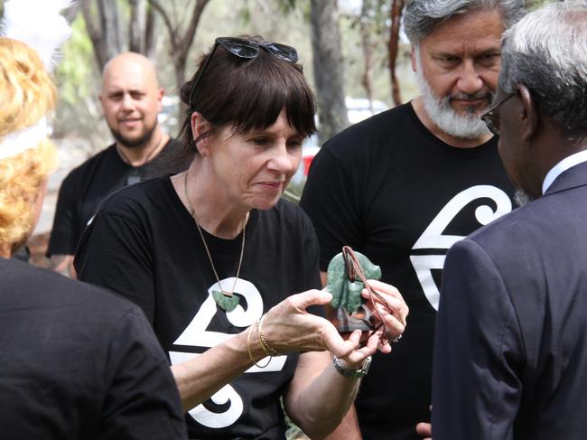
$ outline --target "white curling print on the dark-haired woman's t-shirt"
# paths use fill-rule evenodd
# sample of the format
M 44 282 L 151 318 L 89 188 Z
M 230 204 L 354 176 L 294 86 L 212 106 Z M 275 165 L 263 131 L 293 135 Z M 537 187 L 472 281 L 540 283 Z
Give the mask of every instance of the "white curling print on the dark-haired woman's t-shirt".
M 232 286 L 234 281 L 234 277 L 225 278 L 220 280 L 220 284 L 224 286 Z M 218 312 L 216 303 L 212 297 L 213 290 L 221 290 L 219 283 L 210 286 L 206 301 L 201 304 L 198 313 L 193 317 L 191 323 L 185 328 L 182 334 L 180 334 L 175 342 L 173 342 L 174 344 L 210 348 L 218 345 L 220 342 L 226 341 L 232 336 L 232 334 L 211 332 L 207 330 L 212 318 Z M 245 310 L 241 304 L 238 304 L 235 310 L 227 313 L 227 318 L 233 325 L 246 328 L 255 323 L 257 319 L 261 318 L 261 315 L 263 314 L 263 298 L 256 286 L 240 278 L 237 279 L 235 292 L 238 292 L 238 294 L 245 297 L 247 300 L 247 310 Z M 172 364 L 177 364 L 185 360 L 191 360 L 194 357 L 199 356 L 200 353 L 170 351 L 169 355 Z M 284 368 L 285 360 L 287 360 L 286 356 L 272 358 L 266 368 L 259 369 L 253 366 L 245 371 L 245 373 L 279 371 Z M 266 359 L 259 360 L 259 363 L 265 365 L 266 361 Z M 209 411 L 203 405 L 198 405 L 193 408 L 190 411 L 190 416 L 203 426 L 211 428 L 230 426 L 235 423 L 238 420 L 238 417 L 243 413 L 243 400 L 238 396 L 237 391 L 229 384 L 219 389 L 219 391 L 211 397 L 211 400 L 217 405 L 228 405 L 228 408 L 223 413 Z

